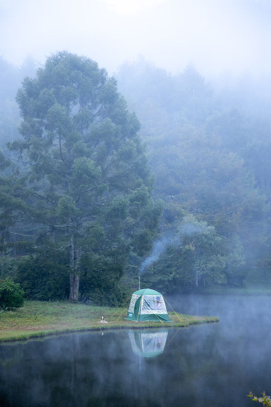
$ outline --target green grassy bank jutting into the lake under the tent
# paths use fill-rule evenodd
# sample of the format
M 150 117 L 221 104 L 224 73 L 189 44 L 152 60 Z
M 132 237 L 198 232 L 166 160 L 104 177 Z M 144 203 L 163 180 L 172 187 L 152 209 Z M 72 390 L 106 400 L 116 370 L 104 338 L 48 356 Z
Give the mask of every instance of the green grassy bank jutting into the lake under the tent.
M 5 311 L 0 314 L 0 341 L 28 339 L 61 332 L 97 330 L 110 328 L 139 328 L 162 326 L 161 322 L 135 323 L 125 319 L 127 311 L 117 320 L 118 308 L 95 307 L 69 302 L 26 301 L 22 308 Z M 108 324 L 100 324 L 101 315 Z M 216 322 L 213 316 L 191 316 L 170 313 L 173 322 L 163 326 L 185 327 L 191 324 Z

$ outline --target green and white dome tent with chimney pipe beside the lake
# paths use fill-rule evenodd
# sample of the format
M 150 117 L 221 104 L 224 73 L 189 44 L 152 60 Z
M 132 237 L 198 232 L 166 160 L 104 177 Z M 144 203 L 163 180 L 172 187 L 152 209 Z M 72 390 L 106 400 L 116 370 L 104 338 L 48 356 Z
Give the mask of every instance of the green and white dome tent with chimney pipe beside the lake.
M 135 291 L 126 318 L 131 321 L 169 321 L 163 295 L 150 288 Z

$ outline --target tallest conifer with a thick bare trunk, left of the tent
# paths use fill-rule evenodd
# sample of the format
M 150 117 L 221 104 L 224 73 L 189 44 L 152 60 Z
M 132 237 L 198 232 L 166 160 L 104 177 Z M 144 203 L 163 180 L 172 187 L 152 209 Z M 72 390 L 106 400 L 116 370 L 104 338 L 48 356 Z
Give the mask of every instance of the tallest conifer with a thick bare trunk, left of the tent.
M 78 299 L 82 254 L 118 259 L 144 253 L 160 204 L 139 121 L 96 62 L 68 52 L 49 57 L 17 93 L 27 208 L 38 250 L 68 250 L 70 299 Z

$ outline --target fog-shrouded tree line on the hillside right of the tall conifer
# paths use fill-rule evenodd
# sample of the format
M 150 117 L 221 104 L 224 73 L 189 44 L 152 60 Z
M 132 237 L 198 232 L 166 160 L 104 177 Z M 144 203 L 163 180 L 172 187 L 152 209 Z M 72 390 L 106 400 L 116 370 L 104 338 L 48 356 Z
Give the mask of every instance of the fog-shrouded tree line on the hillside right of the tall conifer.
M 264 85 L 240 78 L 215 88 L 192 65 L 173 76 L 143 58 L 125 63 L 117 79 L 141 120 L 154 195 L 165 203 L 160 232 L 170 236 L 145 282 L 167 290 L 240 285 L 245 268 L 268 269 L 271 103 Z M 189 232 L 180 237 L 184 225 Z

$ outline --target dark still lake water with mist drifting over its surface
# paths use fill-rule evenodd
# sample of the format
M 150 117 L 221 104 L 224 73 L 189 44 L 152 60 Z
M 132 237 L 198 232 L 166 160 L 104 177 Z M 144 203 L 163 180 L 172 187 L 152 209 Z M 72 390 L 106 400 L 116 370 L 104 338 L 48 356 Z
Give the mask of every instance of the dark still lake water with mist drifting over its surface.
M 0 346 L 0 406 L 253 407 L 250 390 L 271 393 L 271 297 L 167 299 L 220 322 Z

